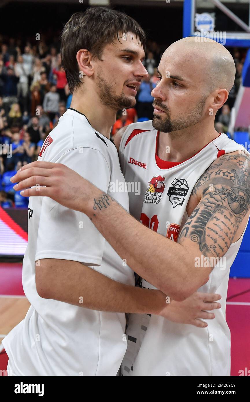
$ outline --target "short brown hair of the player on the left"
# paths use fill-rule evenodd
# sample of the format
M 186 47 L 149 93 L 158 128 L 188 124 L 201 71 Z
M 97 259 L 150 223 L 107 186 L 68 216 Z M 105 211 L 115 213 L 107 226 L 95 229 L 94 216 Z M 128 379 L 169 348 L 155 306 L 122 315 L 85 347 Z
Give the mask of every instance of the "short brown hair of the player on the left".
M 100 59 L 103 48 L 112 43 L 118 33 L 132 32 L 145 51 L 146 38 L 143 29 L 131 17 L 105 7 L 90 7 L 76 12 L 64 26 L 61 34 L 61 65 L 66 72 L 70 92 L 80 87 L 76 53 L 88 49 L 93 57 Z

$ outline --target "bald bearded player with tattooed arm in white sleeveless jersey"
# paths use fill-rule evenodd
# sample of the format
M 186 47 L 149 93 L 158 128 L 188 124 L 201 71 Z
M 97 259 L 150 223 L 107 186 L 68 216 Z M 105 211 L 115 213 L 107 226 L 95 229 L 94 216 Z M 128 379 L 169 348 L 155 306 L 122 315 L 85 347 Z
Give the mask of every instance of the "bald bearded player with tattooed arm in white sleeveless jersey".
M 230 375 L 225 304 L 249 219 L 250 154 L 218 133 L 214 120 L 234 84 L 234 60 L 214 41 L 184 38 L 166 49 L 158 72 L 153 121 L 117 135 L 125 180 L 141 183 L 140 195 L 129 193 L 129 209 L 143 225 L 61 164 L 33 162 L 13 182 L 20 181 L 16 189 L 25 196 L 51 197 L 84 212 L 141 276 L 141 287 L 168 283 L 166 293 L 181 300 L 209 275 L 199 291 L 222 295 L 221 310 L 203 332 L 154 314 L 130 314 L 123 375 Z M 35 183 L 46 187 L 29 188 Z

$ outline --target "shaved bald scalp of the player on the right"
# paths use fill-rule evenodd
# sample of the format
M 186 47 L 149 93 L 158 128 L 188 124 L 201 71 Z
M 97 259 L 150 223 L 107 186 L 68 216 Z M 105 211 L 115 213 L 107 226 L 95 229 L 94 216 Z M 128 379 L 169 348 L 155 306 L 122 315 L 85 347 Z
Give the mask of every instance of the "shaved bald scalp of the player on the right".
M 234 85 L 235 64 L 232 55 L 220 43 L 199 37 L 187 37 L 172 43 L 162 59 L 174 57 L 185 64 L 187 72 L 196 75 L 197 80 L 209 92 L 225 88 L 228 92 Z M 207 39 L 207 38 L 205 38 Z

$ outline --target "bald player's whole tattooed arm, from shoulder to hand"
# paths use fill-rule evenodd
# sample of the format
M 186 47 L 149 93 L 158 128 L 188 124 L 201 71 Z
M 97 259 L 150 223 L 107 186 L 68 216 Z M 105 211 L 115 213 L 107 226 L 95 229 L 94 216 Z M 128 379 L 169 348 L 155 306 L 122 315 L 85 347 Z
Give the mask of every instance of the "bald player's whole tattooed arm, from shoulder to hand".
M 51 197 L 65 207 L 84 212 L 138 275 L 181 301 L 204 285 L 213 269 L 213 265 L 197 269 L 196 258 L 202 254 L 223 256 L 248 213 L 246 181 L 250 162 L 245 156 L 229 156 L 217 159 L 195 185 L 193 197 L 197 197 L 197 203 L 179 243 L 141 225 L 112 197 L 67 166 L 33 162 L 23 166 L 12 183 L 20 181 L 15 189 L 26 189 L 25 196 Z M 36 183 L 46 187 L 39 191 L 27 189 Z M 152 250 L 161 253 L 152 258 Z

